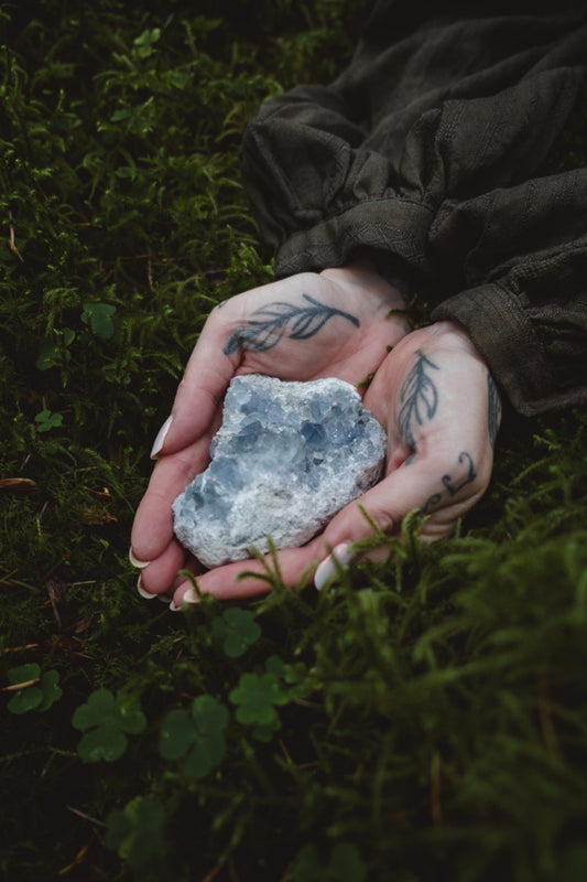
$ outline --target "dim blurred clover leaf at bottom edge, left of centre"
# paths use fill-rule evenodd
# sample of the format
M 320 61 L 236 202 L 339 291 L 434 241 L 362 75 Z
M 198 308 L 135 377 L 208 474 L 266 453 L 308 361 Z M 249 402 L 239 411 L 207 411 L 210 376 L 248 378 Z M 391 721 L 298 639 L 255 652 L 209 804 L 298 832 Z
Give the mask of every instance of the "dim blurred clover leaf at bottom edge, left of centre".
M 161 875 L 163 809 L 152 796 L 137 796 L 106 819 L 106 847 L 118 851 L 135 879 L 157 882 Z

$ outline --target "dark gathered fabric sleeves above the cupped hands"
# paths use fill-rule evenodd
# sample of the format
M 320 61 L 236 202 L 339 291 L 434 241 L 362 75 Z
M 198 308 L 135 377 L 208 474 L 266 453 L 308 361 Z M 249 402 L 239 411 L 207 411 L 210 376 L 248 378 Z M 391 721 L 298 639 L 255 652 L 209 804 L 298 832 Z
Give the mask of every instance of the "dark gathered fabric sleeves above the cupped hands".
M 585 405 L 587 169 L 537 173 L 584 88 L 585 17 L 458 6 L 376 3 L 335 83 L 251 120 L 246 189 L 278 276 L 368 256 L 468 331 L 520 412 Z

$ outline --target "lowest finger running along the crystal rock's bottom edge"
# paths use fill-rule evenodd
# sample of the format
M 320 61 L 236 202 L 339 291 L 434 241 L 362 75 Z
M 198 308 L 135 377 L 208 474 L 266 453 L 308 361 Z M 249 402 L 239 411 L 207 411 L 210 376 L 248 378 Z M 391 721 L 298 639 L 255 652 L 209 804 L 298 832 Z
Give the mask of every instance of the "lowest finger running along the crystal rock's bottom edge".
M 284 549 L 278 553 L 280 576 L 286 585 L 296 585 L 312 563 L 317 563 L 318 549 L 319 541 L 314 539 L 303 548 Z M 264 556 L 264 562 L 265 566 L 253 558 L 216 567 L 198 577 L 198 589 L 217 600 L 242 600 L 265 594 L 271 590 L 268 569 L 274 571 L 274 563 L 270 555 Z M 312 581 L 312 572 L 307 573 L 307 581 Z M 197 603 L 197 594 L 188 581 L 176 589 L 174 604 L 181 606 L 184 598 L 186 603 Z

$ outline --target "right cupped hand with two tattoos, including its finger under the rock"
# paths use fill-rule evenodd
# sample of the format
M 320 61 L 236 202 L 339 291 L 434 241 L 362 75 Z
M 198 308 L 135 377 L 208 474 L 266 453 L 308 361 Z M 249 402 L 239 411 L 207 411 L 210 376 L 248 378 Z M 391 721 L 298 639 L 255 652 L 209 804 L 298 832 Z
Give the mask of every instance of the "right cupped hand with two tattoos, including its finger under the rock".
M 385 534 L 398 533 L 402 518 L 421 508 L 427 516 L 422 538 L 448 536 L 487 487 L 500 421 L 494 383 L 468 335 L 450 322 L 407 334 L 382 363 L 363 402 L 387 429 L 388 455 L 385 475 L 360 498 L 362 508 Z M 336 571 L 330 552 L 349 562 L 351 544 L 371 534 L 350 503 L 303 548 L 279 552 L 284 582 L 296 584 L 319 560 L 314 578 L 322 587 Z M 258 560 L 246 560 L 209 570 L 197 582 L 218 599 L 244 598 L 268 590 L 262 573 Z M 196 601 L 187 581 L 176 585 L 174 605 L 183 600 Z

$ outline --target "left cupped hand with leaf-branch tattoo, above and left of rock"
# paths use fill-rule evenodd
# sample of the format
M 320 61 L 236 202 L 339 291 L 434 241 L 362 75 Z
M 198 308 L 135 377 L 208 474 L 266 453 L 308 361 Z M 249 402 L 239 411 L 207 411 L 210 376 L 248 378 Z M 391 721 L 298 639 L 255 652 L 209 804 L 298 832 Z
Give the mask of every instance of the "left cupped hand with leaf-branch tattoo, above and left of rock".
M 157 462 L 134 518 L 131 560 L 141 569 L 141 593 L 173 595 L 177 604 L 187 587 L 177 571 L 202 572 L 174 538 L 172 503 L 209 462 L 232 377 L 259 373 L 360 384 L 407 334 L 407 322 L 396 312 L 403 308 L 400 291 L 361 261 L 292 276 L 213 310 L 155 439 Z M 225 577 L 231 578 L 229 568 L 218 568 L 217 578 Z

